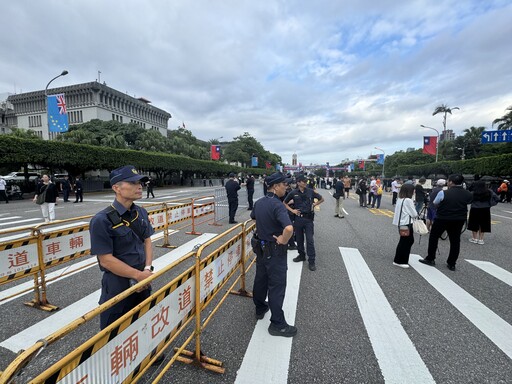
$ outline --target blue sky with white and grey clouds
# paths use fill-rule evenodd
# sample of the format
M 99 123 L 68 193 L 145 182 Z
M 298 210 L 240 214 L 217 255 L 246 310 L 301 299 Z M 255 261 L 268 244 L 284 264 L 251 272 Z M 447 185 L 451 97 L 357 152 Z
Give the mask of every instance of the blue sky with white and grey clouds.
M 4 2 L 0 93 L 99 70 L 170 112 L 169 129 L 248 132 L 284 163 L 420 148 L 440 104 L 460 108 L 456 134 L 512 105 L 510 0 Z

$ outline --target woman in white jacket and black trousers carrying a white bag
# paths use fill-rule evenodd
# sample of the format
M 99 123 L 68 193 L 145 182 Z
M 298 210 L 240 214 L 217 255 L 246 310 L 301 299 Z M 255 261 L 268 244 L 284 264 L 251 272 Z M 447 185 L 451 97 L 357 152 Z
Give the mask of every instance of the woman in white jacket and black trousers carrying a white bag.
M 414 185 L 404 184 L 400 188 L 398 200 L 395 206 L 395 216 L 393 224 L 398 227 L 409 228 L 408 236 L 400 236 L 400 241 L 396 246 L 395 260 L 393 265 L 401 268 L 409 268 L 409 255 L 414 244 L 414 234 L 412 231 L 412 221 L 418 216 L 412 195 L 414 193 Z

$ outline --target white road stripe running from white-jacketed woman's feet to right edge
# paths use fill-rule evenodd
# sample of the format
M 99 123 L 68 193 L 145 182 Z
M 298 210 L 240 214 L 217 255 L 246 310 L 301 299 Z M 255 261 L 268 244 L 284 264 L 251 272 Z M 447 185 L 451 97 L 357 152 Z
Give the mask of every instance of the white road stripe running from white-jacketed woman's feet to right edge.
M 485 336 L 512 358 L 512 325 L 455 284 L 445 274 L 418 262 L 422 258 L 411 254 L 411 267 L 471 321 Z

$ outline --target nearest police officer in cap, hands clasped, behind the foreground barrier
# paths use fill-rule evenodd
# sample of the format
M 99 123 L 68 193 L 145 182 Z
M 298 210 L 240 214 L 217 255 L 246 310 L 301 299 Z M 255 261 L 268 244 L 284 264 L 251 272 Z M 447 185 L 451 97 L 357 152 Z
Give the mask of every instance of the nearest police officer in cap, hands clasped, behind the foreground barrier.
M 147 177 L 139 175 L 132 165 L 113 170 L 110 185 L 116 198 L 91 220 L 91 253 L 98 257 L 103 272 L 99 304 L 153 273 L 150 237 L 154 230 L 146 210 L 133 203 L 142 197 L 141 183 L 145 181 Z M 146 285 L 101 313 L 101 329 L 140 304 L 150 293 L 151 287 Z

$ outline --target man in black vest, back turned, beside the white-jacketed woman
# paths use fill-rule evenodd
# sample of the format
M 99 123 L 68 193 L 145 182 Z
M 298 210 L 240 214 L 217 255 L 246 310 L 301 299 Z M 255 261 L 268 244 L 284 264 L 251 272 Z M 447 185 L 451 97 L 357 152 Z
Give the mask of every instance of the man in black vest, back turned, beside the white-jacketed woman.
M 434 205 L 437 206 L 437 215 L 428 240 L 427 257 L 420 260 L 420 263 L 430 266 L 436 265 L 434 260 L 439 238 L 446 231 L 450 239 L 450 253 L 446 262 L 448 269 L 455 271 L 455 264 L 460 252 L 462 227 L 467 220 L 468 204 L 473 201 L 473 194 L 462 187 L 463 182 L 464 177 L 462 175 L 450 175 L 448 177 L 448 190 L 440 191 L 434 199 Z

